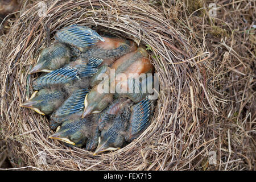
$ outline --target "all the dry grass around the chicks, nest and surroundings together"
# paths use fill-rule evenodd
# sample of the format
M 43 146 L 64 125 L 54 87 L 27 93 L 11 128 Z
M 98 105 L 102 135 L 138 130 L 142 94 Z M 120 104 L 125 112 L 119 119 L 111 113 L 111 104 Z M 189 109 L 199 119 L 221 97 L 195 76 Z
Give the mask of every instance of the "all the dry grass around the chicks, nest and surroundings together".
M 1 56 L 1 134 L 21 169 L 255 170 L 255 1 L 46 1 L 23 5 Z M 189 3 L 188 3 L 189 2 Z M 189 7 L 189 9 L 188 9 Z M 84 24 L 151 47 L 160 92 L 154 119 L 128 146 L 92 156 L 48 139 L 45 117 L 19 107 L 56 30 Z M 209 164 L 216 152 L 217 163 Z M 46 159 L 46 160 L 43 160 Z

